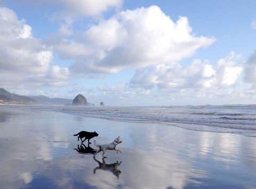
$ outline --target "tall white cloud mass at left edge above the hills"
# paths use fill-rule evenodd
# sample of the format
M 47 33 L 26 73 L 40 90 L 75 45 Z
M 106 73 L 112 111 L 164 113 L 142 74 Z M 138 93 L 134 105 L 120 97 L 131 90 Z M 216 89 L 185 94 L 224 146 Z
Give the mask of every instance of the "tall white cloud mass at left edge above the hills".
M 64 85 L 68 68 L 51 66 L 53 53 L 41 39 L 32 36 L 25 20 L 18 20 L 14 11 L 0 7 L 0 77 L 2 87 L 33 88 Z

